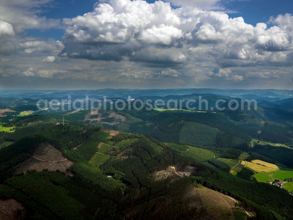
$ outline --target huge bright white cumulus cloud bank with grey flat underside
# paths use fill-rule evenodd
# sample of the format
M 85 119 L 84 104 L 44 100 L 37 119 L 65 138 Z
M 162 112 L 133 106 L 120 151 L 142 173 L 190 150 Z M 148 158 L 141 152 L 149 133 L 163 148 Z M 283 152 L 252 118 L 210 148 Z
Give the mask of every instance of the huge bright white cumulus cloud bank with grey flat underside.
M 220 67 L 292 65 L 292 16 L 256 26 L 242 17 L 163 1 L 100 0 L 93 11 L 65 19 L 70 25 L 60 54 L 89 60 L 131 60 L 162 65 L 194 62 L 203 52 Z M 186 3 L 186 2 L 185 2 Z M 212 4 L 216 1 L 211 1 Z

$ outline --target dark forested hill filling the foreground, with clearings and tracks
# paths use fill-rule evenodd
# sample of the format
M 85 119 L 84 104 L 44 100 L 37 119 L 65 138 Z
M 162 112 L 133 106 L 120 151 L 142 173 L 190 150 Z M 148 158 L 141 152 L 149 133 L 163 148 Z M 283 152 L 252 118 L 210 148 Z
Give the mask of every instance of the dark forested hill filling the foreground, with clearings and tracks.
M 50 163 L 38 172 L 20 172 L 26 165 L 47 163 L 46 149 L 50 157 L 61 152 L 73 164 L 66 171 L 61 166 L 54 171 Z M 242 209 L 256 213 L 247 219 L 293 216 L 293 197 L 285 190 L 231 175 L 209 150 L 144 135 L 52 125 L 1 148 L 0 155 L 1 199 L 21 202 L 28 219 L 211 218 L 205 209 L 190 205 L 187 195 L 199 184 L 238 199 Z M 184 178 L 154 178 L 170 166 L 193 171 Z

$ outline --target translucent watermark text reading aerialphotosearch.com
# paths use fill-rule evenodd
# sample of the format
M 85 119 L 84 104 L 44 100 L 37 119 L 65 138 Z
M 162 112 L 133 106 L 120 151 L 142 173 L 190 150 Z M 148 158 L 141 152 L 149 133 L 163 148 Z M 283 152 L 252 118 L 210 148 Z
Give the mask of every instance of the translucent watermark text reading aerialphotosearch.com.
M 196 110 L 206 110 L 206 111 L 224 111 L 226 109 L 235 111 L 235 110 L 251 110 L 251 104 L 254 106 L 254 110 L 257 110 L 257 101 L 255 99 L 230 99 L 230 100 L 224 100 L 224 99 L 217 99 L 213 100 L 212 106 L 209 107 L 209 101 L 207 99 L 202 99 L 202 96 L 198 96 L 198 99 L 169 99 L 169 100 L 163 100 L 163 99 L 131 99 L 131 96 L 128 97 L 128 99 L 125 101 L 124 99 L 107 99 L 106 96 L 103 97 L 103 100 L 99 99 L 90 99 L 88 96 L 86 96 L 85 99 L 75 99 L 71 100 L 71 96 L 69 95 L 67 97 L 68 99 L 40 99 L 37 102 L 37 106 L 39 110 L 46 110 L 51 109 L 53 111 L 71 111 L 71 110 L 91 110 L 91 111 L 97 111 L 100 109 L 103 110 L 113 110 L 114 108 L 116 110 L 122 111 L 124 109 L 132 110 L 135 109 L 137 111 L 140 111 L 142 109 L 145 110 L 152 110 L 152 109 L 186 109 L 190 111 L 196 111 Z M 244 106 L 247 106 L 246 109 L 244 109 Z

